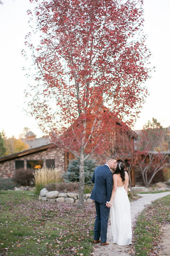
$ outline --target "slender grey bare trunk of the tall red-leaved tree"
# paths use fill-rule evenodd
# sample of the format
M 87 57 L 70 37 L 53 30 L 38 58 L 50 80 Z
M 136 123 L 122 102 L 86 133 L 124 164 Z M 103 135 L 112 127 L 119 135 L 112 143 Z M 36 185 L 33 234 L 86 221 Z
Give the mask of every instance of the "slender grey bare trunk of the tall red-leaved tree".
M 80 148 L 80 175 L 79 175 L 79 208 L 84 208 L 84 152 Z

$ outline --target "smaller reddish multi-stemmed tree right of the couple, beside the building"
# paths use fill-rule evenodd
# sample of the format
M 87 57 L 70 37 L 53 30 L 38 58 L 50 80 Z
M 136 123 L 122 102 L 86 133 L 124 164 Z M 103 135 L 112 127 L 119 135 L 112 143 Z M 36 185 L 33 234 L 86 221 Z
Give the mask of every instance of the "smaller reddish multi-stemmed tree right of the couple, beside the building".
M 155 174 L 170 165 L 167 130 L 152 118 L 152 121 L 144 125 L 136 146 L 136 164 L 140 168 L 145 186 L 149 186 Z

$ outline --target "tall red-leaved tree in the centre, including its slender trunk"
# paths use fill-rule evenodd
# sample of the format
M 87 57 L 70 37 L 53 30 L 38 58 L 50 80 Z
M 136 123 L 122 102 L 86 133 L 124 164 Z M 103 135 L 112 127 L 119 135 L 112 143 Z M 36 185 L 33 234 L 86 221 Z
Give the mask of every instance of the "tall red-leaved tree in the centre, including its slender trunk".
M 34 65 L 28 105 L 55 145 L 80 159 L 81 207 L 84 159 L 109 147 L 114 117 L 132 125 L 145 102 L 150 52 L 142 0 L 30 2 L 36 7 L 28 11 L 25 41 Z

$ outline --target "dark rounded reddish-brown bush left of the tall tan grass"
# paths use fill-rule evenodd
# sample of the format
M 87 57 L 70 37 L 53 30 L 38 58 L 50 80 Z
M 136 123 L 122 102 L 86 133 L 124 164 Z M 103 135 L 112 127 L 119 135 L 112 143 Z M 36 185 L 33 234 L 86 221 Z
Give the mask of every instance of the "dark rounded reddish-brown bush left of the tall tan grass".
M 34 169 L 24 169 L 24 168 L 19 168 L 15 170 L 15 176 L 13 179 L 21 184 L 22 186 L 28 186 L 31 181 L 33 181 L 34 178 Z

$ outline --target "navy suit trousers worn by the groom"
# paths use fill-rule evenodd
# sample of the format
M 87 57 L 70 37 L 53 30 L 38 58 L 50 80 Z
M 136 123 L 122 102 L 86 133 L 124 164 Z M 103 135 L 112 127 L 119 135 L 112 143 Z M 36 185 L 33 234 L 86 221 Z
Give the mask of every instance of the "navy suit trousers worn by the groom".
M 94 224 L 94 240 L 101 240 L 101 243 L 106 243 L 107 240 L 107 224 L 109 218 L 110 208 L 106 207 L 104 203 L 98 203 L 96 205 L 96 220 Z

